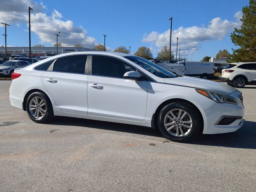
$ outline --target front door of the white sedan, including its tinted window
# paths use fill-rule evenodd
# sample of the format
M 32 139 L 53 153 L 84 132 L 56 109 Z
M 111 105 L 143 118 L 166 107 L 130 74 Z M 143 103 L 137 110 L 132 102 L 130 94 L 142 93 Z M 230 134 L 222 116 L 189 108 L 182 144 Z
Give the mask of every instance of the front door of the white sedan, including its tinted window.
M 97 55 L 89 70 L 88 115 L 144 122 L 147 82 L 123 78 L 134 69 L 117 58 Z

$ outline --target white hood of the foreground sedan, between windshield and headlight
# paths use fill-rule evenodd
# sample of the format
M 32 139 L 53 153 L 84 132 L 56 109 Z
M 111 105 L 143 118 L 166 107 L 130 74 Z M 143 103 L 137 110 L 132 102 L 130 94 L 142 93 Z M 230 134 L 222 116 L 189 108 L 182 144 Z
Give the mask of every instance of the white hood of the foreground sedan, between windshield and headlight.
M 227 95 L 237 90 L 236 88 L 223 83 L 218 83 L 210 80 L 188 77 L 188 76 L 182 76 L 182 77 L 176 77 L 176 78 L 164 78 L 163 80 L 165 83 L 203 88 L 203 89 L 224 93 Z

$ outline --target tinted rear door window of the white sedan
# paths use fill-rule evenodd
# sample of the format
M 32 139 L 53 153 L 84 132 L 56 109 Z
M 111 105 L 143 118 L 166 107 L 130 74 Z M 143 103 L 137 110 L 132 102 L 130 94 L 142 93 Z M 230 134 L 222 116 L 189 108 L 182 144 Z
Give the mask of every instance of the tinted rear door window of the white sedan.
M 86 55 L 59 58 L 54 63 L 53 71 L 84 74 L 86 59 Z

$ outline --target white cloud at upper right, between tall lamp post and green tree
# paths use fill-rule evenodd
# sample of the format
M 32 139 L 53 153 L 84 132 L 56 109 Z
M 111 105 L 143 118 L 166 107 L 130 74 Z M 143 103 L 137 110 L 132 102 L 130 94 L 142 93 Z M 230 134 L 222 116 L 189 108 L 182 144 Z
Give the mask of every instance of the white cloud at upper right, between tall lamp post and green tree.
M 230 22 L 228 20 L 222 20 L 217 17 L 210 21 L 207 27 L 183 27 L 172 31 L 172 47 L 176 47 L 176 38 L 178 37 L 178 48 L 181 49 L 182 55 L 193 54 L 201 42 L 207 40 L 222 40 L 226 34 L 229 34 L 235 27 L 239 28 L 241 25 L 240 18 L 242 12 L 237 12 L 234 17 L 236 22 Z M 170 43 L 170 29 L 163 32 L 151 32 L 150 34 L 144 34 L 143 42 L 152 42 L 158 47 L 169 45 Z M 174 49 L 172 49 L 174 50 Z

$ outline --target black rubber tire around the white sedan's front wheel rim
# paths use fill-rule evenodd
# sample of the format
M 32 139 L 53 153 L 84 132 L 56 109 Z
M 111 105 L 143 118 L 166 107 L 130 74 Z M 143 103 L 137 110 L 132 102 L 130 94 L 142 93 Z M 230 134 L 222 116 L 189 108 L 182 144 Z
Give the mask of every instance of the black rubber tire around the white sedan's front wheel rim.
M 186 134 L 184 133 L 184 136 L 174 136 L 176 132 L 176 128 L 174 127 L 171 131 L 174 131 L 174 133 L 170 133 L 167 131 L 167 128 L 164 126 L 164 120 L 166 117 L 166 114 L 170 114 L 171 110 L 181 109 L 187 112 L 191 119 L 192 119 L 192 128 L 190 131 Z M 171 104 L 168 104 L 165 106 L 158 115 L 158 129 L 159 131 L 169 140 L 175 141 L 175 142 L 188 142 L 194 140 L 197 136 L 200 135 L 200 130 L 202 128 L 202 119 L 200 117 L 200 114 L 198 114 L 198 110 L 195 109 L 194 106 L 191 106 L 188 103 L 185 102 L 174 102 Z M 178 120 L 178 119 L 177 119 Z M 181 125 L 181 122 L 179 123 Z M 178 123 L 176 121 L 176 126 L 178 126 Z M 181 128 L 181 127 L 180 127 Z M 185 128 L 185 127 L 183 127 Z M 182 128 L 181 128 L 182 129 Z M 186 129 L 186 128 L 185 128 Z M 188 129 L 187 129 L 188 130 Z M 180 131 L 180 129 L 179 129 Z M 185 132 L 185 130 L 183 129 Z M 180 132 L 181 134 L 181 132 Z

